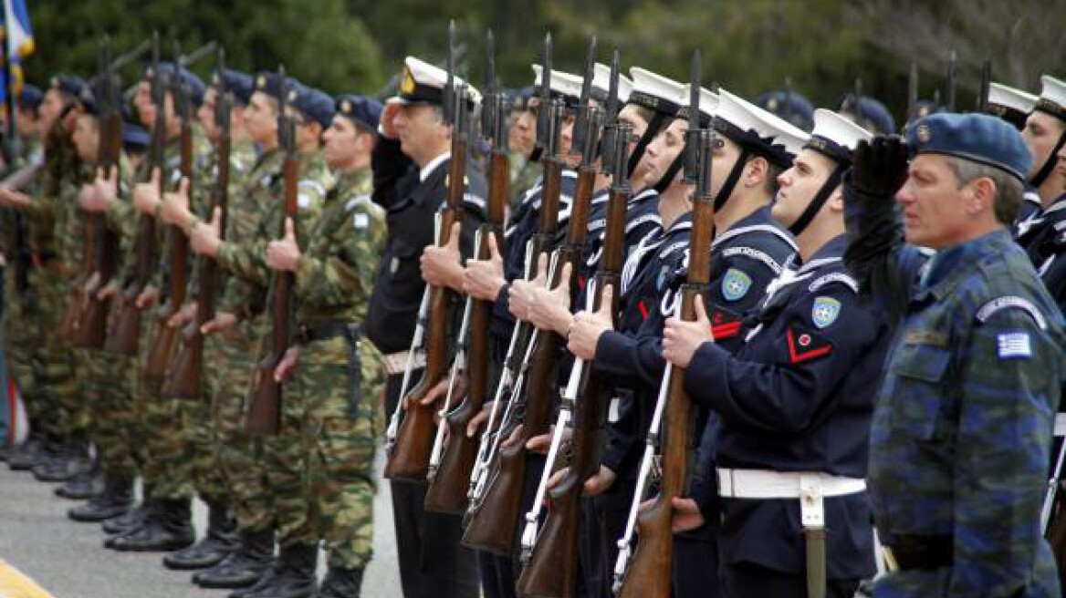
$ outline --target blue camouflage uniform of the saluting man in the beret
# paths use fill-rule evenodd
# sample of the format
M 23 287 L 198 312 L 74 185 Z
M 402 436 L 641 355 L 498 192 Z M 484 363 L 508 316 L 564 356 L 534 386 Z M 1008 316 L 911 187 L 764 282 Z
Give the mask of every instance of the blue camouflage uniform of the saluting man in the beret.
M 899 328 L 869 485 L 902 568 L 873 595 L 1059 596 L 1037 521 L 1066 322 L 1007 231 L 941 250 L 919 279 L 891 199 L 845 177 L 845 201 L 849 267 Z

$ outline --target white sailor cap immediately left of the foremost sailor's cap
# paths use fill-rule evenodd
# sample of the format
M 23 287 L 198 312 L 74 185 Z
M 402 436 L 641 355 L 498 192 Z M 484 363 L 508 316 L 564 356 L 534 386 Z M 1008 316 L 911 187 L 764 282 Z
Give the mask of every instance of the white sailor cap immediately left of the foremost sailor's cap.
M 718 92 L 715 129 L 733 143 L 787 168 L 810 137 L 802 129 L 725 89 Z

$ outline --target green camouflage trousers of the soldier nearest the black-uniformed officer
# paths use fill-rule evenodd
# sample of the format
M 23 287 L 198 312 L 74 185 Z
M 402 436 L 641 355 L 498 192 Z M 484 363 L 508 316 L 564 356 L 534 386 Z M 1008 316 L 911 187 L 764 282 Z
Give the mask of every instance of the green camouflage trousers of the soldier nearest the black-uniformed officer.
M 359 343 L 360 387 L 353 398 L 348 342 L 301 347 L 295 379 L 286 386 L 305 397 L 306 496 L 316 534 L 332 567 L 366 567 L 373 554 L 374 451 L 377 396 L 384 384 L 381 354 Z

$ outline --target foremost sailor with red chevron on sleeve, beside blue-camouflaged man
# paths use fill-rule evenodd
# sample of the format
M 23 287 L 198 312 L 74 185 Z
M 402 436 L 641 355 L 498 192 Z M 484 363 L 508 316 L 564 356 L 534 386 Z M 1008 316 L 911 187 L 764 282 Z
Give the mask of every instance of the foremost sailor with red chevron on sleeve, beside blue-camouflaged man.
M 863 391 L 881 376 L 888 335 L 844 269 L 840 194 L 852 148 L 869 136 L 814 112 L 773 207 L 804 265 L 772 285 L 739 350 L 713 343 L 701 303 L 695 321 L 666 322 L 664 356 L 687 368 L 685 391 L 720 427 L 717 484 L 679 511 L 699 521 L 721 509 L 727 596 L 851 597 L 875 570 L 862 481 L 873 397 Z

